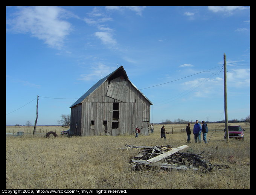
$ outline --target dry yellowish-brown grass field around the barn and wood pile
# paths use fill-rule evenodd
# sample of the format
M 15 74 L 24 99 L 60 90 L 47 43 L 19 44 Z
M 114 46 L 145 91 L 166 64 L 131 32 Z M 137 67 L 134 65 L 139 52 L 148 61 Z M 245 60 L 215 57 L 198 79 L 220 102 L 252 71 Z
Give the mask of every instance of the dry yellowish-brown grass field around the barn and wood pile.
M 24 136 L 6 136 L 6 189 L 250 189 L 250 126 L 245 129 L 245 140 L 223 141 L 224 123 L 208 124 L 212 135 L 205 144 L 187 144 L 186 124 L 165 125 L 167 140 L 160 139 L 162 125 L 154 125 L 149 136 L 131 135 L 62 137 L 65 128 L 38 126 L 33 128 L 6 126 L 6 133 L 24 130 Z M 191 125 L 193 128 L 193 124 Z M 22 129 L 24 128 L 24 129 Z M 172 134 L 173 129 L 173 134 Z M 27 133 L 26 133 L 27 131 Z M 42 132 L 44 131 L 44 132 Z M 45 138 L 49 131 L 58 137 Z M 212 133 L 213 132 L 213 133 Z M 204 160 L 212 164 L 228 165 L 228 169 L 202 171 L 133 171 L 130 160 L 137 149 L 120 149 L 129 145 L 189 145 L 181 152 L 204 153 Z

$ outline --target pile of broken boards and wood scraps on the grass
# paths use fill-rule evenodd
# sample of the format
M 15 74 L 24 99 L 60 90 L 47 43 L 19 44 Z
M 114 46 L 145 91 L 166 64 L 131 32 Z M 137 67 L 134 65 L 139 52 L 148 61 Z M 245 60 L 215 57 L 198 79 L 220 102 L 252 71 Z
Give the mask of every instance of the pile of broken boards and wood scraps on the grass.
M 187 152 L 180 152 L 182 149 L 189 146 L 183 145 L 178 148 L 172 148 L 170 145 L 166 146 L 135 146 L 125 145 L 129 148 L 136 148 L 140 152 L 134 159 L 131 159 L 131 164 L 134 170 L 139 170 L 141 167 L 160 167 L 162 169 L 192 169 L 199 170 L 203 168 L 204 171 L 212 171 L 213 169 L 229 168 L 227 165 L 212 165 L 209 161 L 203 160 L 205 154 L 193 154 Z M 210 154 L 206 154 L 210 155 Z M 201 167 L 201 168 L 200 168 Z

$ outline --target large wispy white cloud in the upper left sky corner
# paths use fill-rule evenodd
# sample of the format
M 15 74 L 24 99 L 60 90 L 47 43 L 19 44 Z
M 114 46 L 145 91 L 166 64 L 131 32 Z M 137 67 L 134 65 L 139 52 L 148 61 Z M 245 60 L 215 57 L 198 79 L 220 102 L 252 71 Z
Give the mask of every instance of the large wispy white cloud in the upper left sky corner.
M 30 34 L 52 48 L 61 49 L 72 30 L 71 24 L 61 19 L 64 17 L 76 16 L 55 6 L 19 7 L 15 17 L 6 23 L 12 32 Z

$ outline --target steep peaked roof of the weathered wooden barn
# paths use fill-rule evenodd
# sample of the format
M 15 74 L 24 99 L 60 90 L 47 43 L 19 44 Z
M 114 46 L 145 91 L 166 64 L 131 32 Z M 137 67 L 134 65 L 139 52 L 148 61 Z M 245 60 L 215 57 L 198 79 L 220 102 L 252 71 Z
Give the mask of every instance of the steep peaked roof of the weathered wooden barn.
M 99 86 L 101 86 L 101 84 L 103 84 L 107 79 L 108 82 L 110 82 L 112 79 L 115 79 L 119 76 L 123 76 L 125 79 L 127 79 L 145 98 L 146 96 L 129 80 L 128 76 L 126 75 L 125 70 L 123 69 L 123 66 L 120 66 L 118 69 L 116 69 L 114 72 L 110 73 L 109 75 L 105 76 L 104 78 L 102 78 L 101 80 L 99 80 L 98 82 L 96 82 L 96 84 L 94 84 L 88 91 L 85 92 L 85 94 L 83 94 L 81 96 L 81 98 L 79 98 L 74 104 L 72 104 L 72 106 L 70 106 L 70 108 L 72 108 L 73 106 L 80 104 L 85 98 L 87 98 L 94 90 L 96 90 Z M 149 99 L 146 98 L 148 101 Z M 149 103 L 151 105 L 152 102 L 149 101 Z

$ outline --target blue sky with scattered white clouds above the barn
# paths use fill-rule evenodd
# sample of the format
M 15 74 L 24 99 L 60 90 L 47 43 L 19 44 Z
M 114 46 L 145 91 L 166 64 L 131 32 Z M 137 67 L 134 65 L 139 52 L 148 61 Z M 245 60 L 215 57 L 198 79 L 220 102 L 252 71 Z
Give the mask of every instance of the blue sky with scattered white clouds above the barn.
M 123 66 L 151 122 L 250 115 L 249 6 L 7 6 L 6 125 L 57 125 Z

